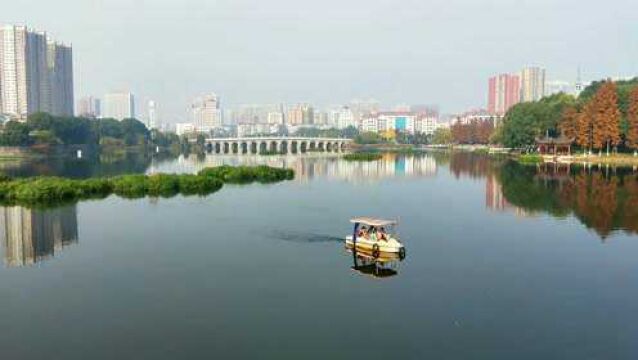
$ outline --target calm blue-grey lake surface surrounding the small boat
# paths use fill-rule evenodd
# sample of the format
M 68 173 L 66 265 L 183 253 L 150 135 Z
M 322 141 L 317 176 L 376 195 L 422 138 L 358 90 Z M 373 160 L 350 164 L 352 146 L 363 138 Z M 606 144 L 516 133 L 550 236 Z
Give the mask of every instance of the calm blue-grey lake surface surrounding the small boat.
M 3 208 L 2 358 L 638 358 L 631 169 L 458 154 L 12 171 L 221 163 L 292 167 L 296 179 L 205 198 Z M 352 269 L 341 239 L 354 215 L 400 219 L 408 256 L 394 276 Z

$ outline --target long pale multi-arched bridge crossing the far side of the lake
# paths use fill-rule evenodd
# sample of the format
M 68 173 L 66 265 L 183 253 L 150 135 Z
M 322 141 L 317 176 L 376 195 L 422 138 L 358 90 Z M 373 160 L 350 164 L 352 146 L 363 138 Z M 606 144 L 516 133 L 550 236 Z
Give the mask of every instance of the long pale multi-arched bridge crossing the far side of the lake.
M 340 152 L 347 149 L 351 143 L 352 139 L 294 136 L 208 138 L 206 150 L 213 154 Z

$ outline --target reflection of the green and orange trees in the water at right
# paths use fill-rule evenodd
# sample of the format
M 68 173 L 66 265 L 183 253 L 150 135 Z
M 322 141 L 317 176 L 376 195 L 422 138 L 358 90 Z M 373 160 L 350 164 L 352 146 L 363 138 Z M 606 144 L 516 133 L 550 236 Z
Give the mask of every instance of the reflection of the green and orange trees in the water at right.
M 638 174 L 630 168 L 508 162 L 499 179 L 507 201 L 556 217 L 574 216 L 605 240 L 638 233 Z

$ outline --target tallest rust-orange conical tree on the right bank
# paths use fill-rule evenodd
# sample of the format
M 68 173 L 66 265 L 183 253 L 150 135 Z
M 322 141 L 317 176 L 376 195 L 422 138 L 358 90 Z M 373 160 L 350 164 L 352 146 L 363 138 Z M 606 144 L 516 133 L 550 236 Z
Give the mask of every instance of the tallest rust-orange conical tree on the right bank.
M 606 81 L 592 99 L 593 123 L 592 143 L 593 147 L 601 150 L 607 146 L 617 146 L 620 143 L 620 110 L 618 109 L 618 94 L 613 81 Z

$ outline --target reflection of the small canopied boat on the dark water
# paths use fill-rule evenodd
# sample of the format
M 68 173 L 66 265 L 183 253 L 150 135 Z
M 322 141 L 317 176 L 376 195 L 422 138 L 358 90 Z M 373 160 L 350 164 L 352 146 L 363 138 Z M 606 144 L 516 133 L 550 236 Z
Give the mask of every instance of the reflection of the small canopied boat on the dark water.
M 361 275 L 367 275 L 375 279 L 385 279 L 399 274 L 399 263 L 405 258 L 399 254 L 382 253 L 374 256 L 362 250 L 354 250 L 346 246 L 346 251 L 352 255 L 352 267 L 350 269 Z

